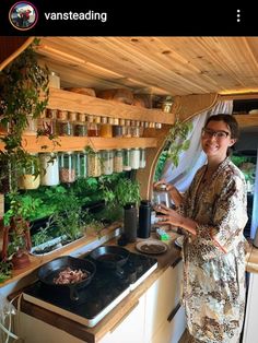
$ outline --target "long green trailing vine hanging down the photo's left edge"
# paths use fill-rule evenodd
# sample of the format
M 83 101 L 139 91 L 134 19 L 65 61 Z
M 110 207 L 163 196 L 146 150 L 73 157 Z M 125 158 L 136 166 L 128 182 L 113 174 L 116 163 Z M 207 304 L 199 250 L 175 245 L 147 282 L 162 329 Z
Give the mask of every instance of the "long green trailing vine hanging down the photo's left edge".
M 10 198 L 10 209 L 4 213 L 3 224 L 12 236 L 12 244 L 16 243 L 16 251 L 22 248 L 22 243 L 16 238 L 22 237 L 21 230 L 27 233 L 30 229 L 26 221 L 33 209 L 33 204 L 24 206 L 21 203 L 17 180 L 32 165 L 35 167 L 35 178 L 39 175 L 35 156 L 26 152 L 22 144 L 23 132 L 28 125 L 28 116 L 37 119 L 43 114 L 49 95 L 49 71 L 37 62 L 35 47 L 38 44 L 39 40 L 34 39 L 0 71 L 0 126 L 5 131 L 0 137 L 4 144 L 4 150 L 0 151 L 0 191 Z

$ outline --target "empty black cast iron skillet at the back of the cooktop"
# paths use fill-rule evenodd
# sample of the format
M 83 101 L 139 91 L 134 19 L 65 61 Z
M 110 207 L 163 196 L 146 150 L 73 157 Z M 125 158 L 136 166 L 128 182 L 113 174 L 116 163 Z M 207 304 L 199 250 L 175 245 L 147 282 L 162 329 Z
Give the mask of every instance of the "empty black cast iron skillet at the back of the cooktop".
M 102 267 L 119 271 L 120 267 L 127 262 L 129 255 L 130 251 L 125 248 L 117 246 L 103 246 L 94 249 L 90 253 L 90 257 L 94 262 Z

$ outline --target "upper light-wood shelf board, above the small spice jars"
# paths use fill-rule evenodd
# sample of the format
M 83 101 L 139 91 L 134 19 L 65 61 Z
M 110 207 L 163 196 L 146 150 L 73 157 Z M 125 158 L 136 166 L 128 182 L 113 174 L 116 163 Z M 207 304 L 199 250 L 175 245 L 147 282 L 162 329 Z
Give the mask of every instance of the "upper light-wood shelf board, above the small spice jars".
M 112 118 L 125 118 L 167 125 L 173 125 L 175 122 L 174 114 L 166 114 L 160 109 L 126 105 L 58 88 L 49 90 L 49 102 L 47 107 L 51 109 L 85 113 L 94 116 Z

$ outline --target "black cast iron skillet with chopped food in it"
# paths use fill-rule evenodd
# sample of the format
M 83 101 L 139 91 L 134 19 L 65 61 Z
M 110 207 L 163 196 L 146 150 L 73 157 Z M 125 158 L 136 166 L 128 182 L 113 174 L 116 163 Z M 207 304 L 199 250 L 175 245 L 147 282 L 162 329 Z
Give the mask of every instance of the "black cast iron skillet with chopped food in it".
M 87 277 L 82 281 L 71 283 L 71 284 L 61 285 L 61 284 L 54 283 L 54 279 L 57 277 L 59 273 L 63 271 L 64 269 L 67 269 L 68 267 L 70 267 L 71 270 L 81 269 L 83 272 L 87 273 Z M 71 300 L 78 300 L 79 295 L 77 291 L 89 285 L 95 272 L 96 272 L 96 267 L 94 262 L 91 262 L 89 260 L 83 260 L 83 259 L 77 259 L 71 256 L 63 256 L 50 262 L 47 262 L 46 264 L 40 267 L 38 270 L 38 279 L 43 283 L 47 284 L 48 286 L 58 287 L 58 288 L 63 288 L 63 287 L 70 288 Z

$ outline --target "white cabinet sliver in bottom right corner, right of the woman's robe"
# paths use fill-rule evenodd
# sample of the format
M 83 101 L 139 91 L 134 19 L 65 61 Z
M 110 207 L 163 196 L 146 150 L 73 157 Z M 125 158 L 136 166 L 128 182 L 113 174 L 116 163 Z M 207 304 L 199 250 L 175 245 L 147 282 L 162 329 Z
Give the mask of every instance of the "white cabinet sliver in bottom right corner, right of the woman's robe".
M 258 274 L 250 273 L 243 343 L 257 342 Z

